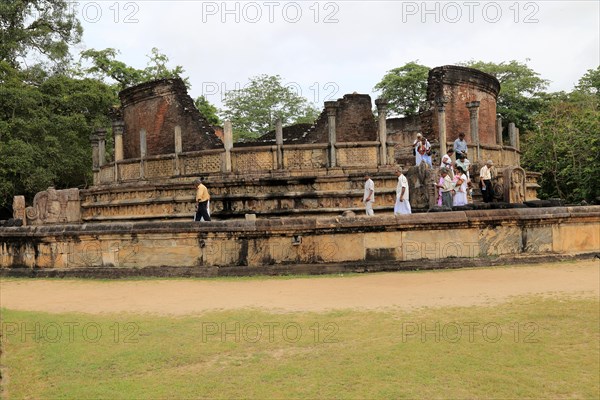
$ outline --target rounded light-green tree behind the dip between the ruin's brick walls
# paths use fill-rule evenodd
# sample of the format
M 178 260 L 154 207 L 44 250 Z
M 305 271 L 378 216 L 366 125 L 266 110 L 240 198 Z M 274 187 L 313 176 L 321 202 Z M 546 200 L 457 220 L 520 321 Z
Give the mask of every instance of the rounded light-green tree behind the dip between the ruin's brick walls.
M 278 118 L 287 125 L 313 122 L 318 116 L 318 110 L 283 85 L 279 75 L 252 77 L 243 89 L 225 93 L 223 103 L 221 116 L 232 122 L 236 139 L 267 133 Z

